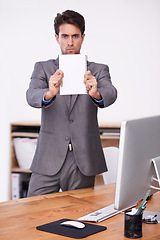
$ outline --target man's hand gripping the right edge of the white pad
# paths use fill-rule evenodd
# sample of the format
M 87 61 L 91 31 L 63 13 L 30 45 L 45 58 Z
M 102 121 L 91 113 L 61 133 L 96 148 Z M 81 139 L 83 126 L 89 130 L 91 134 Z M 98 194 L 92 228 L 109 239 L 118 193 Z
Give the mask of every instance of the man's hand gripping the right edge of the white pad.
M 90 71 L 87 71 L 84 75 L 84 84 L 86 85 L 86 89 L 88 91 L 88 94 L 97 99 L 101 100 L 102 96 L 97 90 L 97 80 L 96 78 L 91 74 Z

